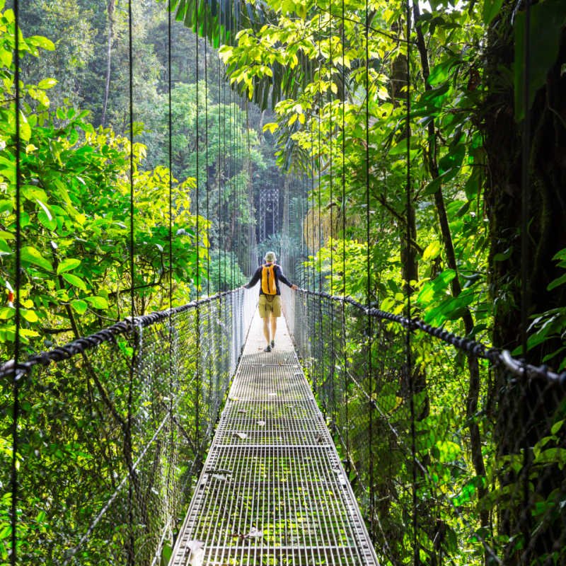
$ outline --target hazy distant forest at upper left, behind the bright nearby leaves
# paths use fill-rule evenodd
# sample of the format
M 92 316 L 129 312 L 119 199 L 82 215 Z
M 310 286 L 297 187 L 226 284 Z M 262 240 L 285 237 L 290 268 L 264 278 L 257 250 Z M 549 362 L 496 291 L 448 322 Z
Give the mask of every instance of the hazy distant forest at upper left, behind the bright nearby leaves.
M 280 246 L 279 210 L 284 204 L 284 175 L 275 164 L 272 134 L 262 132 L 262 125 L 270 122 L 273 115 L 248 104 L 231 90 L 217 51 L 202 37 L 197 40 L 183 23 L 175 21 L 174 15 L 169 36 L 166 4 L 141 0 L 132 3 L 132 10 L 130 64 L 127 3 L 26 1 L 21 8 L 23 35 L 47 37 L 54 43 L 54 50 L 42 52 L 40 57 L 25 58 L 24 80 L 39 83 L 45 77 L 56 79 L 57 84 L 49 92 L 51 108 L 71 106 L 88 110 L 88 121 L 93 126 L 110 127 L 117 134 L 127 135 L 131 67 L 133 120 L 140 125 L 135 140 L 146 146 L 142 166 L 151 170 L 168 163 L 171 52 L 173 175 L 180 179 L 198 178 L 200 214 L 206 215 L 208 206 L 209 216 L 214 219 L 209 234 L 211 260 L 216 266 L 213 269 L 222 271 L 218 262 L 225 255 L 231 265 L 229 275 L 223 274 L 221 282 L 216 277 L 213 289 L 227 289 L 231 286 L 229 279 L 235 277 L 236 283 L 241 282 L 257 259 L 255 250 L 234 245 L 248 241 L 246 226 L 255 229 L 260 250 Z M 197 120 L 200 120 L 198 141 Z M 248 175 L 251 175 L 249 179 Z M 221 194 L 219 184 L 224 187 Z M 229 195 L 229 187 L 236 184 L 246 185 L 246 191 L 253 190 L 250 194 L 253 207 L 240 197 Z M 208 204 L 205 203 L 207 192 Z M 236 207 L 230 202 L 234 199 L 238 201 Z M 257 210 L 262 212 L 260 222 L 256 220 Z M 219 222 L 224 219 L 234 224 L 236 216 L 243 224 L 240 228 L 245 236 L 223 238 L 224 244 L 219 246 L 219 235 L 226 233 L 226 226 L 219 226 Z M 261 240 L 265 241 L 263 246 Z M 238 254 L 236 265 L 234 253 Z

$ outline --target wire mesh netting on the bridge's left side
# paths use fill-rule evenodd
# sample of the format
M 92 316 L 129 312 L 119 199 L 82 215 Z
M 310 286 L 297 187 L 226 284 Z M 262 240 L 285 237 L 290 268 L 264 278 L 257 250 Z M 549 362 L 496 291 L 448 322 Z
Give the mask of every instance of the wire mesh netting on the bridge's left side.
M 21 564 L 168 560 L 236 369 L 249 301 L 236 291 L 140 317 L 96 349 L 21 375 Z

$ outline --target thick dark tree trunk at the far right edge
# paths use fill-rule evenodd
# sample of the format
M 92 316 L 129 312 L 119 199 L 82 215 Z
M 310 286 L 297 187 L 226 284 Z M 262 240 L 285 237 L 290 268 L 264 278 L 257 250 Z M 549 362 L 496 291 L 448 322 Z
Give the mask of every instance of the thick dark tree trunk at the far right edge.
M 495 306 L 493 343 L 509 350 L 521 345 L 521 305 L 529 316 L 554 308 L 563 311 L 566 305 L 565 285 L 547 289 L 561 275 L 553 256 L 566 247 L 566 75 L 561 71 L 566 62 L 566 31 L 562 28 L 558 60 L 548 72 L 545 86 L 536 93 L 528 114 L 532 132 L 529 227 L 528 253 L 523 257 L 522 125 L 514 120 L 513 88 L 503 79 L 512 76 L 515 4 L 506 0 L 490 26 L 484 79 L 488 94 L 480 115 L 489 167 L 485 199 L 490 220 L 490 290 Z M 546 33 L 544 29 L 535 31 Z M 529 273 L 525 296 L 521 294 L 521 265 L 526 265 Z M 538 365 L 559 346 L 560 340 L 546 340 L 524 357 Z M 556 364 L 556 357 L 551 357 L 550 363 Z M 517 494 L 511 503 L 499 503 L 499 530 L 519 542 L 508 545 L 504 563 L 543 563 L 541 557 L 564 546 L 565 529 L 563 519 L 560 523 L 560 519 L 537 516 L 534 504 L 547 499 L 554 490 L 561 489 L 563 498 L 562 472 L 551 464 L 533 472 L 532 447 L 550 436 L 563 391 L 543 381 L 511 381 L 503 371 L 497 373 L 497 391 L 501 393 L 495 431 L 497 450 L 500 456 L 516 454 L 522 462 L 519 470 L 502 466 L 499 473 L 501 483 Z M 565 445 L 563 436 L 559 442 Z

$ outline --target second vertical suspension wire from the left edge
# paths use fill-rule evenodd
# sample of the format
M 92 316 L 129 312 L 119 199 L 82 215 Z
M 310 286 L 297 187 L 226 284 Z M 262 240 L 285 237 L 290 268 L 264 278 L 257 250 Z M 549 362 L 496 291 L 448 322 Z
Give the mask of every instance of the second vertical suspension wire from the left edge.
M 131 287 L 129 289 L 130 317 L 132 324 L 135 316 L 135 294 L 134 294 L 134 25 L 133 25 L 132 0 L 128 0 L 128 71 L 129 71 L 129 277 Z M 129 548 L 128 566 L 135 561 L 135 538 L 134 538 L 134 470 L 132 467 L 132 404 L 134 395 L 134 371 L 137 362 L 137 338 L 134 331 L 134 343 L 132 347 L 132 364 L 129 367 L 128 384 L 128 413 L 127 413 L 127 458 L 129 468 L 128 482 L 128 519 L 129 519 Z

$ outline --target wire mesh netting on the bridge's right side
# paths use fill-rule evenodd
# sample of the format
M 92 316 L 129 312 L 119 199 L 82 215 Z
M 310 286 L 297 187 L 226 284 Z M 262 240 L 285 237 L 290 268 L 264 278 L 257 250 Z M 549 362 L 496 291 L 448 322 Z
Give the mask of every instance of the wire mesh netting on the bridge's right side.
M 381 563 L 566 562 L 560 380 L 328 295 L 285 302 Z

